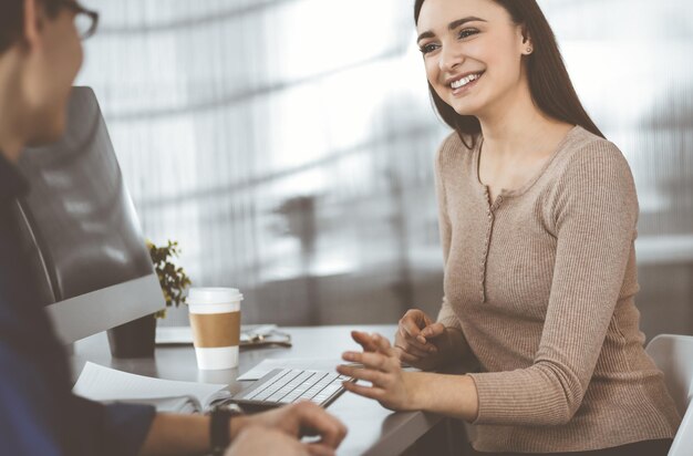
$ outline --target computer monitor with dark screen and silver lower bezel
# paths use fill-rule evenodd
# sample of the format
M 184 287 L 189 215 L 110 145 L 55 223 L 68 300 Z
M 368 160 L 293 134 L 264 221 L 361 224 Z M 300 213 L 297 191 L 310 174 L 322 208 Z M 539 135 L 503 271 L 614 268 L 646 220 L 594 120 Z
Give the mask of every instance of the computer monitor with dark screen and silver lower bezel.
M 17 225 L 45 311 L 70 343 L 165 301 L 90 87 L 73 87 L 66 121 L 60 141 L 23 152 L 19 167 L 31 190 L 18 201 Z

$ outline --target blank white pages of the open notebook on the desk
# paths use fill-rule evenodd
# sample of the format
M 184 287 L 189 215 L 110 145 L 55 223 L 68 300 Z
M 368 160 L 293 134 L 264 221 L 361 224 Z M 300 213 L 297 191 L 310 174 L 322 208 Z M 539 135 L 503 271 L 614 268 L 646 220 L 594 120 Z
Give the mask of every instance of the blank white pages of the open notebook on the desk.
M 153 379 L 116 371 L 87 362 L 72 392 L 92 401 L 148 401 L 172 397 L 194 397 L 207 406 L 226 385 Z

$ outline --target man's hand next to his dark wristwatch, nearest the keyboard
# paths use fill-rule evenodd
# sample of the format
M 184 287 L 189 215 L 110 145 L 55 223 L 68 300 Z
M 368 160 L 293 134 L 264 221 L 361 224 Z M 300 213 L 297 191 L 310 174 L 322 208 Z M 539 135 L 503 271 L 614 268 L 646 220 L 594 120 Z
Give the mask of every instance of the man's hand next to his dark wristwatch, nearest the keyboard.
M 310 454 L 316 455 L 325 454 L 325 449 L 332 452 L 346 435 L 346 427 L 339 419 L 311 402 L 287 405 L 256 415 L 235 417 L 231 418 L 230 426 L 232 442 L 235 442 L 236 432 L 244 431 L 246 426 L 275 429 L 292 437 L 294 442 L 298 442 L 302 436 L 319 436 L 320 439 L 317 443 L 307 446 Z

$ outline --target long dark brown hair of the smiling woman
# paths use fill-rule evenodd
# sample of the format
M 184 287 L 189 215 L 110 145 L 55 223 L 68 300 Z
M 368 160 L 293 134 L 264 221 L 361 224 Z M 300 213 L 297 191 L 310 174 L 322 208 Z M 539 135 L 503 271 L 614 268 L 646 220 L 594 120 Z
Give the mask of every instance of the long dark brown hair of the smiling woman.
M 414 22 L 425 0 L 414 3 Z M 537 106 L 550 117 L 580 125 L 582 128 L 604 137 L 601 131 L 582 107 L 580 99 L 570 82 L 568 70 L 558 49 L 556 35 L 536 0 L 494 0 L 505 8 L 516 24 L 525 27 L 532 40 L 534 52 L 526 55 L 529 91 Z M 474 147 L 476 136 L 482 132 L 479 121 L 473 115 L 459 115 L 445 103 L 428 83 L 428 91 L 435 108 L 443 121 L 457 132 L 468 147 Z M 466 138 L 472 138 L 467 144 Z

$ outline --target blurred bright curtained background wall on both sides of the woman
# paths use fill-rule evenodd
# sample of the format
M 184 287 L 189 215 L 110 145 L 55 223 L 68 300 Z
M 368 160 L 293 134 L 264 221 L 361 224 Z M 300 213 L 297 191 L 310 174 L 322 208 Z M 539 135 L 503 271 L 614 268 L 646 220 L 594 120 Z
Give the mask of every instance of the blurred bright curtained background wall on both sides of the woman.
M 442 298 L 432 112 L 412 0 L 85 0 L 101 101 L 146 236 L 245 322 L 395 322 Z M 638 186 L 649 336 L 693 333 L 693 3 L 544 0 Z M 163 324 L 180 324 L 170 312 Z

